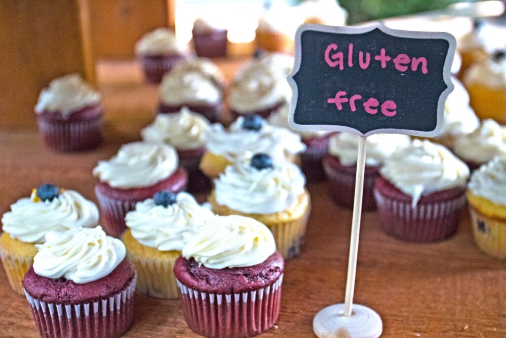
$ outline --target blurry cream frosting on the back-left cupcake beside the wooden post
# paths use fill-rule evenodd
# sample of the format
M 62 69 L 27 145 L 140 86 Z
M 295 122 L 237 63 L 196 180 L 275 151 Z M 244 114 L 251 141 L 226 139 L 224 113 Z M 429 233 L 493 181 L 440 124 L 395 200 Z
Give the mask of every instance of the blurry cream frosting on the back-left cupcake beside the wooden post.
M 177 41 L 174 32 L 162 27 L 144 34 L 135 44 L 138 55 L 180 54 L 186 53 L 187 49 L 186 44 Z

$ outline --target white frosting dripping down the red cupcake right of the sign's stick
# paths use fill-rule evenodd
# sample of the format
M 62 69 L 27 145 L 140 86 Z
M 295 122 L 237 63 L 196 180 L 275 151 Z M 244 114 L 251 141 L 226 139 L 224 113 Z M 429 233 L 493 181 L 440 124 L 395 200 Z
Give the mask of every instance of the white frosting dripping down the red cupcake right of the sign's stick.
M 441 144 L 414 140 L 393 153 L 380 169 L 404 194 L 413 198 L 414 208 L 423 195 L 465 186 L 468 166 Z

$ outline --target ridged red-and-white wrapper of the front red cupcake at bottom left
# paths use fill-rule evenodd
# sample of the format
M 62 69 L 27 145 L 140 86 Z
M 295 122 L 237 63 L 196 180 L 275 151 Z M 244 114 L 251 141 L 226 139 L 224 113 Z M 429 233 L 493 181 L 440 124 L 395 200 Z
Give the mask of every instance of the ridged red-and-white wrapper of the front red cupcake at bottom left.
M 134 319 L 136 277 L 121 291 L 95 303 L 46 303 L 24 291 L 42 337 L 118 337 Z

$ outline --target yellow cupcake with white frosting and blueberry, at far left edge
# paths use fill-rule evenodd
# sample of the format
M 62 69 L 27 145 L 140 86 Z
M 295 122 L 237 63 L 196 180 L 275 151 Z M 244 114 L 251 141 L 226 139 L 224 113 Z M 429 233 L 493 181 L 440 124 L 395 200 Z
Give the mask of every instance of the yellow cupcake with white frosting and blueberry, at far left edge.
M 33 263 L 36 244 L 48 232 L 65 232 L 78 227 L 95 227 L 97 206 L 73 190 L 60 190 L 53 184 L 34 189 L 31 197 L 11 205 L 2 216 L 0 258 L 12 289 L 23 294 L 21 280 Z

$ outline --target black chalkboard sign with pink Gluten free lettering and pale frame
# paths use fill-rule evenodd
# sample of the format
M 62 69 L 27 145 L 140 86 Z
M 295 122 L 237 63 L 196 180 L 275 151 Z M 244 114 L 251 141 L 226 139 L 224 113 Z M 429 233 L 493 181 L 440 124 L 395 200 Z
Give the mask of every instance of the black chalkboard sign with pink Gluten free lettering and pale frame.
M 449 33 L 304 24 L 296 34 L 289 124 L 301 131 L 435 136 L 453 90 Z

